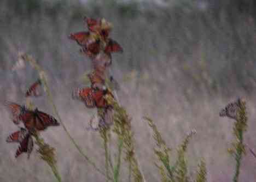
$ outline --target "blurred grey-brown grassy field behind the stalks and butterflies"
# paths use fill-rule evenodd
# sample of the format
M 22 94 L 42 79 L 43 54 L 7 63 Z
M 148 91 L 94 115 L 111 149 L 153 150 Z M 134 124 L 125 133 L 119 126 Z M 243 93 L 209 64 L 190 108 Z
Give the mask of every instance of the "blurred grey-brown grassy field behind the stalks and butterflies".
M 83 86 L 90 60 L 68 39 L 83 31 L 83 17 L 104 17 L 113 23 L 110 35 L 124 48 L 113 54 L 111 74 L 120 84 L 121 105 L 132 117 L 136 154 L 147 181 L 160 181 L 154 162 L 152 131 L 142 117 L 154 119 L 172 150 L 187 132 L 197 130 L 188 148 L 189 176 L 205 157 L 208 181 L 231 181 L 235 159 L 231 147 L 232 120 L 219 111 L 238 96 L 247 100 L 248 131 L 245 142 L 255 148 L 256 2 L 253 0 L 148 0 L 148 1 L 0 1 L 0 100 L 25 103 L 24 93 L 38 78 L 31 66 L 12 70 L 18 52 L 30 53 L 46 70 L 60 116 L 75 141 L 104 170 L 100 134 L 87 131 L 96 110 L 71 98 Z M 46 96 L 34 99 L 53 114 Z M 36 150 L 15 159 L 18 144 L 5 138 L 18 128 L 0 105 L 0 181 L 54 181 L 54 175 Z M 63 181 L 103 181 L 74 148 L 61 128 L 42 132 L 56 148 Z M 113 148 L 117 144 L 113 142 Z M 240 181 L 255 181 L 256 159 L 242 159 Z M 127 179 L 127 167 L 121 176 Z

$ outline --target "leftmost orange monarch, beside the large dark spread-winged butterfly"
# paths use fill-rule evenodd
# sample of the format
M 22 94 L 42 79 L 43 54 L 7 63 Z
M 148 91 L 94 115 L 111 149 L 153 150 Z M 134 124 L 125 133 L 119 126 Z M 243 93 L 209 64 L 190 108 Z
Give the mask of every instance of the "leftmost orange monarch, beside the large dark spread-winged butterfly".
M 9 102 L 9 101 L 5 101 L 4 105 L 8 108 L 8 111 L 10 112 L 13 123 L 18 125 L 20 123 L 20 116 L 21 114 L 25 113 L 26 107 L 20 106 L 14 102 Z

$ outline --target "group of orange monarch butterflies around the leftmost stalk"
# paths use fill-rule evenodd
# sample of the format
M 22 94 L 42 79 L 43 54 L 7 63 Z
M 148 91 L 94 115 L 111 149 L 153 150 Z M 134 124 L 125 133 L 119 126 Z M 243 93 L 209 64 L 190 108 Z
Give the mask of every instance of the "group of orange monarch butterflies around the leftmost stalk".
M 41 84 L 40 80 L 34 82 L 27 90 L 25 97 L 42 96 L 42 91 L 40 92 L 39 89 Z M 38 108 L 31 110 L 25 105 L 19 105 L 11 101 L 5 101 L 4 105 L 8 108 L 13 123 L 15 125 L 23 123 L 24 125 L 24 128 L 19 126 L 19 130 L 11 133 L 6 139 L 8 143 L 15 142 L 20 144 L 19 148 L 16 150 L 15 157 L 18 157 L 22 153 L 27 153 L 29 158 L 34 146 L 32 136 L 36 134 L 36 132 L 43 131 L 49 126 L 60 125 L 53 116 L 39 111 Z

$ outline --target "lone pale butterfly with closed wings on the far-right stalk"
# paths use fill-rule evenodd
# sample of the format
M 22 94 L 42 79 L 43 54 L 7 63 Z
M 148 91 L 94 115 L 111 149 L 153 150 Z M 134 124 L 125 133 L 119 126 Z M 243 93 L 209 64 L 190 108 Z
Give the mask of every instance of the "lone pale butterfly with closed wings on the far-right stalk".
M 229 118 L 232 118 L 232 119 L 236 119 L 237 118 L 236 114 L 237 114 L 240 106 L 241 106 L 241 99 L 237 99 L 237 101 L 231 102 L 228 105 L 226 105 L 226 107 L 223 108 L 219 112 L 219 116 L 220 117 L 229 117 Z

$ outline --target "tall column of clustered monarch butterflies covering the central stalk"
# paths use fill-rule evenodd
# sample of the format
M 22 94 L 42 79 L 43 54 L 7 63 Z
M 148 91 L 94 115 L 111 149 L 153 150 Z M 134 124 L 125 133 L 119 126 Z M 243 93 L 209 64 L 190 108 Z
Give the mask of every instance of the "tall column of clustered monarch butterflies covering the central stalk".
M 114 99 L 111 90 L 106 86 L 107 69 L 112 64 L 112 53 L 123 52 L 117 41 L 109 38 L 112 25 L 105 19 L 84 17 L 88 31 L 71 33 L 69 39 L 75 40 L 86 57 L 92 60 L 93 70 L 87 75 L 90 87 L 75 88 L 73 99 L 84 102 L 87 108 L 97 108 L 101 114 L 90 119 L 89 129 L 108 128 L 113 123 L 113 106 L 108 104 L 106 96 Z M 113 81 L 113 77 L 109 77 Z M 96 123 L 96 124 L 95 124 Z M 93 126 L 95 125 L 95 126 Z

